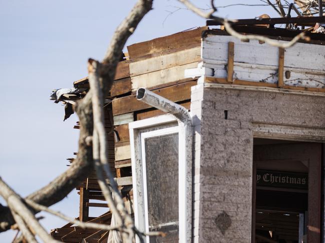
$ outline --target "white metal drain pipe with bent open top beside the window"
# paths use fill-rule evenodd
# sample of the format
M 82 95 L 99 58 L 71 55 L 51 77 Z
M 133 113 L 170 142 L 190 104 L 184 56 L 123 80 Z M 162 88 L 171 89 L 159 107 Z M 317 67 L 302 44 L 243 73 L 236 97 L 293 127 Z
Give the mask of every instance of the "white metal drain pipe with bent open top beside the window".
M 193 126 L 190 113 L 148 89 L 139 88 L 137 99 L 174 115 L 178 121 L 178 231 L 179 243 L 192 242 L 192 148 Z M 172 206 L 172 205 L 171 205 Z

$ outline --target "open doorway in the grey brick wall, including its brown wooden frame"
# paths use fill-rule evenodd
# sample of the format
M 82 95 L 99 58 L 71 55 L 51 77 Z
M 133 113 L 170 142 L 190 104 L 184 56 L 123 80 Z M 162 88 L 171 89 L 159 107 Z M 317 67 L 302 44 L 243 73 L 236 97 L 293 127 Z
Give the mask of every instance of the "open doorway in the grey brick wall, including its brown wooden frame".
M 321 144 L 254 139 L 252 242 L 320 241 Z

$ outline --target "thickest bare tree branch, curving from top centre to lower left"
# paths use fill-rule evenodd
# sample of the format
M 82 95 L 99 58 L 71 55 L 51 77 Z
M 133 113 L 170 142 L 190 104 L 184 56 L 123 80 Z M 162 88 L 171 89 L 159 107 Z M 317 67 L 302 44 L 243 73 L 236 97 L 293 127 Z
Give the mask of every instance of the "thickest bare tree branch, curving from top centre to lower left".
M 152 8 L 153 0 L 138 0 L 129 15 L 120 24 L 114 33 L 101 68 L 101 88 L 104 95 L 111 88 L 115 76 L 115 69 L 120 60 L 122 49 L 126 40 L 134 32 L 143 16 Z M 91 92 L 89 92 L 75 107 L 80 121 L 79 151 L 77 159 L 72 166 L 53 180 L 49 185 L 31 194 L 27 198 L 51 206 L 64 199 L 74 188 L 93 170 L 93 151 L 86 139 L 93 135 L 93 112 L 91 105 Z M 15 220 L 8 207 L 0 205 L 0 232 L 7 231 L 15 224 Z

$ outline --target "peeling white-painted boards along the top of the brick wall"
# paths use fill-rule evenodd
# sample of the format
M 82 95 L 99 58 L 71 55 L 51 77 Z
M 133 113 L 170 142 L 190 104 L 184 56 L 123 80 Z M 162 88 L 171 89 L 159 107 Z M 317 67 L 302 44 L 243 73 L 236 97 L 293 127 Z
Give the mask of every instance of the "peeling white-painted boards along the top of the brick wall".
M 257 40 L 241 42 L 227 35 L 208 35 L 202 43 L 202 59 L 206 67 L 214 68 L 214 76 L 227 77 L 228 42 L 234 42 L 233 79 L 277 83 L 279 49 Z M 285 41 L 280 41 L 285 42 Z M 285 85 L 325 87 L 325 46 L 296 43 L 284 51 Z M 286 73 L 288 74 L 288 72 Z

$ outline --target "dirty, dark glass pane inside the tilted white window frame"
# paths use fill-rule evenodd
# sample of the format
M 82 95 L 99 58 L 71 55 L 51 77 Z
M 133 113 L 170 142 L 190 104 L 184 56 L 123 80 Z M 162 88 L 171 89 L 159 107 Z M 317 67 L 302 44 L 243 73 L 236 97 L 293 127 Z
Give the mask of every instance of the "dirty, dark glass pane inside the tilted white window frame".
M 145 140 L 150 243 L 178 242 L 178 133 Z

